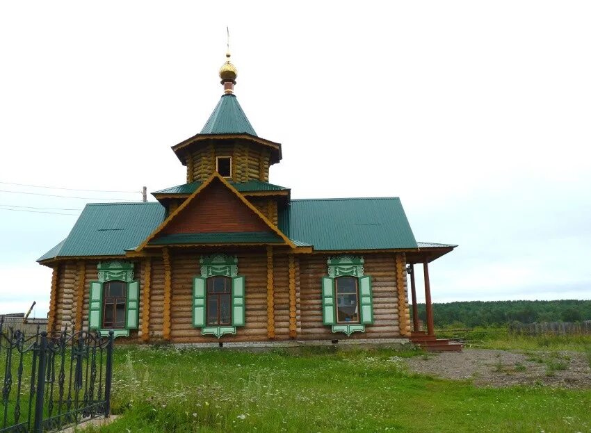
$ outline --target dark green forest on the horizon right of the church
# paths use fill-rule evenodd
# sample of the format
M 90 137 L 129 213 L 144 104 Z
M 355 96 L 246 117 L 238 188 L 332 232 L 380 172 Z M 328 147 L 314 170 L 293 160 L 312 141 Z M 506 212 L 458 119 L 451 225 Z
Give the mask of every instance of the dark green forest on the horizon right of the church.
M 425 304 L 419 304 L 425 320 Z M 510 322 L 581 322 L 591 320 L 591 300 L 467 301 L 433 304 L 435 326 L 495 326 Z

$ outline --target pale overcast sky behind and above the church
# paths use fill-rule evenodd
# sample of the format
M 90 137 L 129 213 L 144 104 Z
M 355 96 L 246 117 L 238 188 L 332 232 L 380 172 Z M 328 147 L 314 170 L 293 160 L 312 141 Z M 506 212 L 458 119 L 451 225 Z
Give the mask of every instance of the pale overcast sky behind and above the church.
M 0 181 L 184 183 L 170 146 L 222 94 L 229 26 L 238 100 L 283 145 L 271 182 L 400 197 L 417 240 L 460 245 L 430 266 L 434 302 L 591 299 L 589 1 L 290 4 L 1 2 Z M 0 190 L 0 313 L 35 316 L 35 260 L 79 215 L 62 209 L 140 199 Z

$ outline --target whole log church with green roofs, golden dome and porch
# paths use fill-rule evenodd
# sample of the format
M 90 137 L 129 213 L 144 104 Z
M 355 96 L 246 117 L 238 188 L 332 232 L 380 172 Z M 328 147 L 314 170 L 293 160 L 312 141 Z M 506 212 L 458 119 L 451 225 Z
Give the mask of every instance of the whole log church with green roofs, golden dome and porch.
M 226 56 L 218 105 L 172 147 L 186 183 L 152 193 L 157 202 L 87 204 L 38 259 L 53 269 L 49 331 L 113 329 L 129 343 L 448 346 L 433 330 L 428 263 L 455 245 L 416 242 L 398 197 L 291 199 L 270 183 L 282 146 L 252 128 Z

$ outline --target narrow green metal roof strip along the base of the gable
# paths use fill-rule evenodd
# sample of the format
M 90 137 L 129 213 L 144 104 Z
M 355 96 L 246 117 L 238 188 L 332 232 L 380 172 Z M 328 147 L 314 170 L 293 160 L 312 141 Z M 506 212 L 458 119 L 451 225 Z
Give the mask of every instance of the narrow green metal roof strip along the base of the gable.
M 268 231 L 235 233 L 179 233 L 168 234 L 151 240 L 149 245 L 188 243 L 283 243 L 283 239 Z

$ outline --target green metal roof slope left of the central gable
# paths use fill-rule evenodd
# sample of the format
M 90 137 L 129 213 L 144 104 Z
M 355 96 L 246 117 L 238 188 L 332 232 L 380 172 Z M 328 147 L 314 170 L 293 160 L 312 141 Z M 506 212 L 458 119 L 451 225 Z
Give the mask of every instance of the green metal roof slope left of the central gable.
M 164 220 L 159 203 L 87 204 L 65 240 L 38 261 L 63 256 L 119 256 L 140 245 Z

